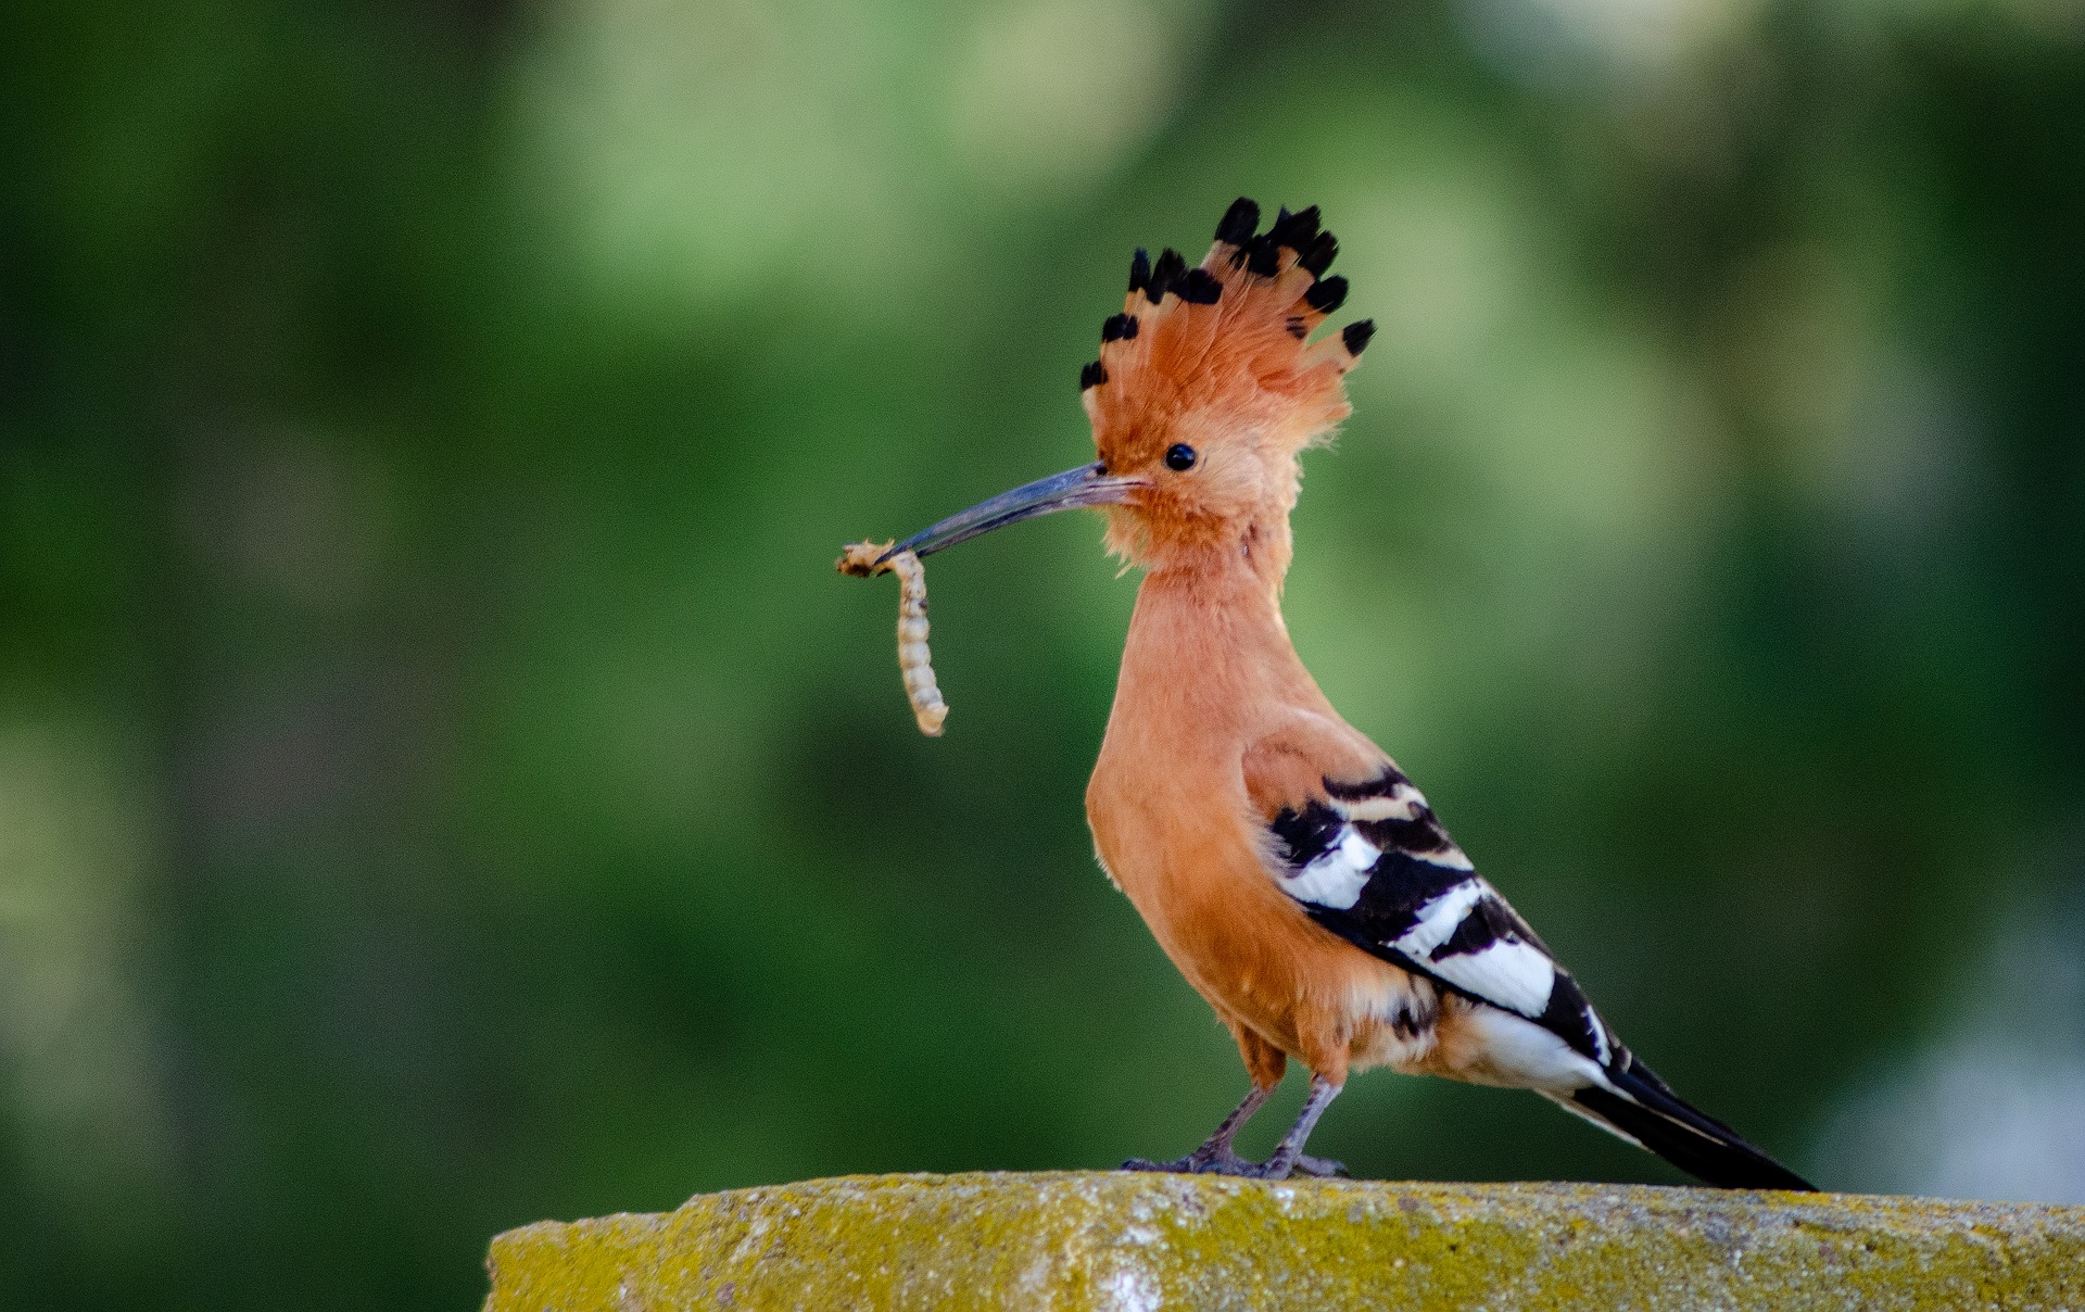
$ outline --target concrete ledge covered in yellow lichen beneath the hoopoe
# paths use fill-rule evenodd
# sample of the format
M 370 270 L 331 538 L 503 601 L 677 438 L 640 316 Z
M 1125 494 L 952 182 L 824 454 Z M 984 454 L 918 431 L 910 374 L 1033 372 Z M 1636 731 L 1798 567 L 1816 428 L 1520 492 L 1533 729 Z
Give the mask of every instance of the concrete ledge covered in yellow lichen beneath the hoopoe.
M 2085 1208 L 1647 1185 L 905 1174 L 492 1241 L 486 1312 L 2085 1308 Z

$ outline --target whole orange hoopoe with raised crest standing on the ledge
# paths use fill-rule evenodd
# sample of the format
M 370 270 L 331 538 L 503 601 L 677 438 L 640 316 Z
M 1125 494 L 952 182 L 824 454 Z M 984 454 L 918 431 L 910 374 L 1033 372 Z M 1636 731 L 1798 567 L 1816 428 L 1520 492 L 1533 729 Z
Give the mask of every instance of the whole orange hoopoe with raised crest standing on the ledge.
M 1143 567 L 1115 707 L 1086 788 L 1109 878 L 1238 1041 L 1251 1093 L 1207 1143 L 1140 1170 L 1284 1179 L 1370 1066 L 1532 1089 L 1693 1176 L 1810 1189 L 1678 1099 L 1470 866 L 1426 797 L 1318 690 L 1282 624 L 1297 457 L 1347 417 L 1374 332 L 1311 340 L 1347 298 L 1318 211 L 1257 232 L 1241 198 L 1199 267 L 1130 263 L 1080 390 L 1099 459 L 953 515 L 928 555 L 1072 507 Z M 1266 1162 L 1232 1149 L 1289 1060 L 1309 1099 Z

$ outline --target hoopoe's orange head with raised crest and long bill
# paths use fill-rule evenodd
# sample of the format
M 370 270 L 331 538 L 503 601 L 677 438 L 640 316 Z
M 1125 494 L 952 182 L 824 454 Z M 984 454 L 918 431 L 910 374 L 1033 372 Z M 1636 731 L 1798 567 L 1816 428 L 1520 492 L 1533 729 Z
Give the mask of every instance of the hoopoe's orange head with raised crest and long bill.
M 1107 507 L 1107 544 L 1147 569 L 1243 553 L 1278 582 L 1289 567 L 1297 455 L 1347 417 L 1345 373 L 1374 325 L 1311 342 L 1347 298 L 1324 271 L 1339 250 L 1318 209 L 1282 211 L 1255 234 L 1238 198 L 1199 267 L 1138 250 L 1122 313 L 1101 325 L 1101 359 L 1080 390 L 1099 461 L 1015 488 L 915 534 L 919 555 L 1003 524 Z

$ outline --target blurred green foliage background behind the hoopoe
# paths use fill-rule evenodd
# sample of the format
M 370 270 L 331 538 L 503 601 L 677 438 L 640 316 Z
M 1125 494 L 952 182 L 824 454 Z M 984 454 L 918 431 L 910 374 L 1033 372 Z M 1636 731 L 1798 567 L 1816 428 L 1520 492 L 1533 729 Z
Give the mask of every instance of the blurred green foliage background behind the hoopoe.
M 171 0 L 0 42 L 0 1304 L 1105 1168 L 1245 1080 L 1090 855 L 1134 246 L 1382 325 L 1289 613 L 1683 1093 L 2085 1201 L 2079 0 Z M 1264 1151 L 1297 1080 L 1249 1135 Z M 1376 1176 L 1676 1181 L 1357 1080 Z

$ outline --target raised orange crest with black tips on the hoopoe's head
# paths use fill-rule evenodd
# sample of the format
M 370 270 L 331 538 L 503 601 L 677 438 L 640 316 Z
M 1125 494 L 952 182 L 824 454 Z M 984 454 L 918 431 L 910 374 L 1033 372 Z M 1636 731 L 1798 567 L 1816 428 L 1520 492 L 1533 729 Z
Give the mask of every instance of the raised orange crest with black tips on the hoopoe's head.
M 1347 417 L 1343 378 L 1374 323 L 1309 340 L 1347 298 L 1347 280 L 1326 277 L 1339 242 L 1318 227 L 1318 206 L 1257 227 L 1259 206 L 1241 196 L 1201 265 L 1170 248 L 1130 261 L 1122 313 L 1101 325 L 1101 359 L 1080 375 L 1111 467 L 1155 459 L 1193 419 L 1295 453 Z

